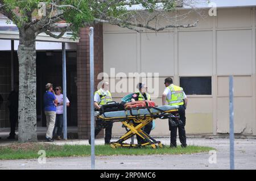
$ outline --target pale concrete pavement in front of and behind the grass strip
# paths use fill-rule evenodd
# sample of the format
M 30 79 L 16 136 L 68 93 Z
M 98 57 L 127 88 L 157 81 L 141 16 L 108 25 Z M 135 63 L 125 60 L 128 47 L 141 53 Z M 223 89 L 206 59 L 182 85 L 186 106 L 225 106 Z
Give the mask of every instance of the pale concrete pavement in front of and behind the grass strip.
M 159 138 L 169 145 L 169 138 Z M 56 141 L 53 144 L 88 144 L 88 140 Z M 96 140 L 104 144 L 104 140 Z M 229 140 L 223 138 L 188 138 L 189 145 L 211 146 L 217 149 L 216 163 L 210 163 L 209 153 L 183 155 L 97 156 L 96 169 L 229 169 Z M 47 153 L 46 153 L 47 154 Z M 210 159 L 214 161 L 214 159 Z M 0 161 L 0 169 L 90 169 L 90 157 L 47 158 Z M 256 139 L 235 140 L 235 169 L 256 169 Z

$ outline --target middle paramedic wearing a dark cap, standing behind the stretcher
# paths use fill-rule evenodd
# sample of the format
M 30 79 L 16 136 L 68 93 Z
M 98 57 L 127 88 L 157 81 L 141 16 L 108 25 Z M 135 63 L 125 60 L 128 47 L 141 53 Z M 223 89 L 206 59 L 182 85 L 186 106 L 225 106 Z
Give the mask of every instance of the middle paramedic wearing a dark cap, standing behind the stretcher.
M 151 100 L 150 99 L 150 94 L 147 93 L 147 86 L 146 83 L 139 83 L 137 88 L 139 89 L 139 92 L 135 92 L 132 96 L 131 96 L 131 102 L 135 102 L 137 100 Z M 150 123 L 148 123 L 147 125 L 145 125 L 142 130 L 144 132 L 146 132 L 147 134 L 150 134 L 151 129 L 152 129 L 152 121 Z M 143 144 L 144 141 L 143 139 L 137 135 L 137 141 L 138 144 Z

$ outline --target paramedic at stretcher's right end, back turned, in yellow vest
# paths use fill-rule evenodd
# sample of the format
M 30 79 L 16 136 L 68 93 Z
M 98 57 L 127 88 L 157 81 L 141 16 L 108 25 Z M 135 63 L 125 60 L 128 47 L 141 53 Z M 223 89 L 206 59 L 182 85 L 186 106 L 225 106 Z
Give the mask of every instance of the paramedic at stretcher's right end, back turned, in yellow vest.
M 171 120 L 169 120 L 169 130 L 171 131 L 171 148 L 176 147 L 176 138 L 177 138 L 177 129 L 179 129 L 179 139 L 181 143 L 181 147 L 187 146 L 186 141 L 186 133 L 185 133 L 185 123 L 186 123 L 186 117 L 185 117 L 185 108 L 187 107 L 188 99 L 185 95 L 185 92 L 183 89 L 179 86 L 175 86 L 172 83 L 172 78 L 166 78 L 164 79 L 164 85 L 166 86 L 166 89 L 164 89 L 163 95 L 162 95 L 162 102 L 163 105 L 166 104 L 166 101 L 168 105 L 179 106 L 179 115 L 180 120 L 182 121 L 182 124 L 172 124 Z

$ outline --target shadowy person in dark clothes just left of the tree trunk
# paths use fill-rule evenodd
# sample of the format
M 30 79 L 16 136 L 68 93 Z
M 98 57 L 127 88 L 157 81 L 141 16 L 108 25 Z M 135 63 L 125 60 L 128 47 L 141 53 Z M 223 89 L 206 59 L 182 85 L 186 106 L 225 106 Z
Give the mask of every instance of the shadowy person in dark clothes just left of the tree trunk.
M 10 92 L 8 98 L 8 107 L 9 107 L 9 119 L 11 131 L 7 139 L 15 139 L 15 127 L 18 123 L 18 106 L 19 106 L 19 83 L 14 83 L 14 90 Z

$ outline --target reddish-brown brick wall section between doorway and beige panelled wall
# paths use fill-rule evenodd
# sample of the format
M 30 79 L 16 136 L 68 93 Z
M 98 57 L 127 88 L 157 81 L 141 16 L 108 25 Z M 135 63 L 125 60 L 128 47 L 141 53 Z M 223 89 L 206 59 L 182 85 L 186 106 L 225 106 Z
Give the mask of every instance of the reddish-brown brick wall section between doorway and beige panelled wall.
M 90 135 L 90 44 L 89 28 L 81 28 L 77 43 L 77 128 L 80 139 Z M 103 71 L 102 24 L 94 26 L 94 90 L 97 89 L 98 73 Z M 98 137 L 102 137 L 101 132 Z

